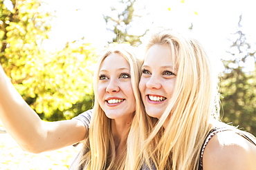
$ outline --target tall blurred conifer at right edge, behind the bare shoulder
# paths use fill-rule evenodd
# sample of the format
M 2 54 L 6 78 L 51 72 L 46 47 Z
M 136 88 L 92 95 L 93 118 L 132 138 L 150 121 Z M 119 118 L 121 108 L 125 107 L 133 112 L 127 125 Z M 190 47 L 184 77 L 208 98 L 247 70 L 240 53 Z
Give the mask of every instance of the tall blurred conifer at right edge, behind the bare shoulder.
M 239 125 L 256 135 L 256 70 L 246 71 L 248 62 L 255 66 L 255 49 L 246 42 L 246 34 L 239 30 L 233 34 L 230 59 L 223 60 L 225 72 L 220 82 L 221 103 L 223 104 L 223 122 Z M 250 63 L 251 64 L 251 63 Z

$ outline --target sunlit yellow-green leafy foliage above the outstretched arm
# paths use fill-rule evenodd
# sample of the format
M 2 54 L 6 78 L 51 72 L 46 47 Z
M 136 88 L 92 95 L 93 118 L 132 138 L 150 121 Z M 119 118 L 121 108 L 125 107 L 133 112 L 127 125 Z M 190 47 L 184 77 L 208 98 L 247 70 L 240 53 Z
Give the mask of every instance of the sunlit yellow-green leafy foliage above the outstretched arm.
M 53 14 L 40 10 L 36 0 L 12 1 L 11 10 L 3 2 L 0 62 L 24 100 L 44 120 L 72 118 L 91 108 L 95 49 L 74 41 L 61 51 L 46 52 L 42 42 Z

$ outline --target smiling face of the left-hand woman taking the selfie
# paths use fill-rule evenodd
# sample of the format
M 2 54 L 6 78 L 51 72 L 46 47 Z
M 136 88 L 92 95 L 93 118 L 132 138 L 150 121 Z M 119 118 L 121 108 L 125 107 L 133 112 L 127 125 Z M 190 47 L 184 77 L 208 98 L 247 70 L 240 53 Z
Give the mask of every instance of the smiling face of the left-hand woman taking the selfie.
M 120 54 L 110 54 L 102 62 L 97 92 L 100 107 L 108 118 L 131 118 L 135 111 L 135 97 L 130 65 Z

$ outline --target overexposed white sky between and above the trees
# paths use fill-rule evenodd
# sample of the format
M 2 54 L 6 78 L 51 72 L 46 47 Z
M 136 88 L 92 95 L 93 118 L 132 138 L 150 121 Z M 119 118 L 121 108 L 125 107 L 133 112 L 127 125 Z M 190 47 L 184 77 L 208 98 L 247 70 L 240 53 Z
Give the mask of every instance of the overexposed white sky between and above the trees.
M 110 6 L 122 7 L 118 6 L 117 0 L 44 1 L 57 12 L 52 41 L 46 45 L 49 49 L 82 36 L 95 47 L 102 47 L 112 40 L 113 35 L 107 32 L 102 16 L 111 15 Z M 255 6 L 254 0 L 183 0 L 183 3 L 181 0 L 137 0 L 136 14 L 143 17 L 134 21 L 130 33 L 142 34 L 147 28 L 157 26 L 188 32 L 193 23 L 192 34 L 212 55 L 220 57 L 229 47 L 230 33 L 237 30 L 240 14 L 243 14 L 241 24 L 248 42 L 256 44 Z

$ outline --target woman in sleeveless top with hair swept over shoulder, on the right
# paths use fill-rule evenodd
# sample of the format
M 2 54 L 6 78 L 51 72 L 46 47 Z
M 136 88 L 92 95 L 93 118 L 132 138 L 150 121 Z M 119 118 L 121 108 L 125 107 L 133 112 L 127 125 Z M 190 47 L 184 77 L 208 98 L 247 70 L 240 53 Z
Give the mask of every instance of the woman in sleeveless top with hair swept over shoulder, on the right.
M 138 136 L 128 151 L 132 169 L 255 169 L 255 138 L 219 121 L 217 74 L 199 42 L 160 30 L 143 43 L 139 87 L 147 114 L 131 127 Z

